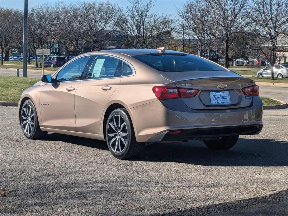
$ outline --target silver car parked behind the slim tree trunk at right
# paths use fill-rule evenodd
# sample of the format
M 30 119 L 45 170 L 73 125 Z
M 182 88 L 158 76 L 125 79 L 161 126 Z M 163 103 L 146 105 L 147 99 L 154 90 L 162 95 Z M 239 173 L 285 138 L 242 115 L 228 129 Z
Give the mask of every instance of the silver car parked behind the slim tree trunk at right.
M 288 64 L 274 64 L 274 77 L 288 77 Z M 257 77 L 271 77 L 271 65 L 257 71 Z

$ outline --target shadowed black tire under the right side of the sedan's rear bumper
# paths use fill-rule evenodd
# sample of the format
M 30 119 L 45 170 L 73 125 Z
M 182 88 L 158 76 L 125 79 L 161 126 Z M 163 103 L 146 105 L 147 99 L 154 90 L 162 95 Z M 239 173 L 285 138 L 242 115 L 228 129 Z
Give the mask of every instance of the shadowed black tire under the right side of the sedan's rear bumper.
M 218 139 L 213 139 L 209 141 L 204 141 L 208 148 L 212 149 L 228 149 L 232 148 L 238 141 L 239 135 L 219 137 Z

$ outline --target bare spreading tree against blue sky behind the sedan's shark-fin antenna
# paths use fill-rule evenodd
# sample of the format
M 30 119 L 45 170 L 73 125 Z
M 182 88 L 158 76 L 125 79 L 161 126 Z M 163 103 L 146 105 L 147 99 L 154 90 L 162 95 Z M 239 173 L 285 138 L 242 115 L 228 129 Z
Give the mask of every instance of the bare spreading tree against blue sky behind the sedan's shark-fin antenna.
M 131 6 L 117 16 L 116 26 L 132 48 L 154 48 L 171 30 L 169 15 L 150 13 L 152 0 L 129 0 Z

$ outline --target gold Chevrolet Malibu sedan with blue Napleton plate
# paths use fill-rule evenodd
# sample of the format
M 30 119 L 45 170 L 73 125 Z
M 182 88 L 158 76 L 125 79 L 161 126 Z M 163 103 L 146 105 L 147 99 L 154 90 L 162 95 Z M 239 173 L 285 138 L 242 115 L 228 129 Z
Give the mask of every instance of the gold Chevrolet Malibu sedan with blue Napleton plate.
M 119 159 L 155 142 L 228 149 L 262 129 L 253 80 L 164 47 L 79 55 L 26 89 L 18 111 L 28 139 L 54 132 L 106 140 Z

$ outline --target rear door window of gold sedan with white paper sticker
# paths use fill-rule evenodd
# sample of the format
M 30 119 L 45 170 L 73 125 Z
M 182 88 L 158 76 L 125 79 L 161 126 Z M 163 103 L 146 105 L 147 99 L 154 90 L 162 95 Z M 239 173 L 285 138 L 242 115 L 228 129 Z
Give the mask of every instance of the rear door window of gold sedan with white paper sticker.
M 87 79 L 121 77 L 122 61 L 108 56 L 96 56 Z

